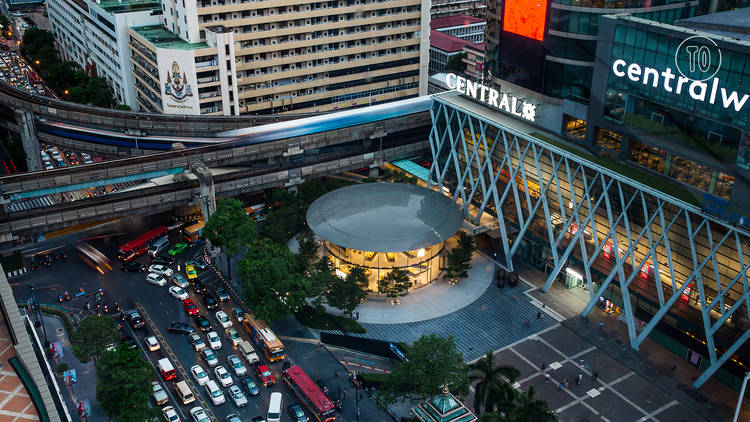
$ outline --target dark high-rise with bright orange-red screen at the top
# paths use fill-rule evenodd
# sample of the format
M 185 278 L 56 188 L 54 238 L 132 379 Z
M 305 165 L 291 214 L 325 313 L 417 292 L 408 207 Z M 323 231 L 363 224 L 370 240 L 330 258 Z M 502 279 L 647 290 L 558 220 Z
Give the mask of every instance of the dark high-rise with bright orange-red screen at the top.
M 695 0 L 490 0 L 486 70 L 498 86 L 585 102 L 602 15 L 672 23 L 697 8 Z

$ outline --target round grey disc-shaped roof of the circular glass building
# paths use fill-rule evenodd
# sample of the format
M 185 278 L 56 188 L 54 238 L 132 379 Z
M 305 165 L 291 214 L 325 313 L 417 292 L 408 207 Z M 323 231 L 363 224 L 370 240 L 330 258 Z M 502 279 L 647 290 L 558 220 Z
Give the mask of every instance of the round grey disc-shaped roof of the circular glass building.
M 310 205 L 307 224 L 322 239 L 368 252 L 403 252 L 445 241 L 463 215 L 451 198 L 403 183 L 364 183 Z

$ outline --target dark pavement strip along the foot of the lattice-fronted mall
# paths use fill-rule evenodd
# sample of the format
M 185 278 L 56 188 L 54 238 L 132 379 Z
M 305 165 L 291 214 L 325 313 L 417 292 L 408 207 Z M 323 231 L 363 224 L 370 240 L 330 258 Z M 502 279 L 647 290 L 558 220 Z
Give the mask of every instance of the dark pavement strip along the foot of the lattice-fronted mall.
M 546 280 L 544 273 L 526 264 L 519 266 L 518 273 L 524 281 L 538 289 L 541 289 Z M 706 381 L 700 390 L 694 389 L 691 384 L 701 374 L 698 368 L 651 339 L 646 339 L 639 350 L 632 349 L 627 326 L 598 307 L 591 311 L 588 318 L 582 318 L 581 312 L 588 301 L 588 294 L 582 289 L 566 289 L 559 283 L 554 283 L 547 293 L 534 290 L 530 294 L 566 317 L 561 325 L 648 379 L 706 420 L 732 420 L 738 397 L 736 391 L 713 378 Z M 599 328 L 600 321 L 604 322 L 602 329 Z M 676 366 L 674 373 L 671 372 L 672 365 Z M 750 421 L 750 403 L 747 401 L 738 420 Z

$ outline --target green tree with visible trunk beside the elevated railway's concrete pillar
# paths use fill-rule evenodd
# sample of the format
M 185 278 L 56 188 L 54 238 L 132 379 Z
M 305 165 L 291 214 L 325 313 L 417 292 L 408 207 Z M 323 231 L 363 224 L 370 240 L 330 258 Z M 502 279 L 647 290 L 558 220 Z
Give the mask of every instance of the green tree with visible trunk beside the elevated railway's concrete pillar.
M 255 221 L 245 212 L 242 202 L 234 198 L 216 201 L 216 211 L 203 227 L 203 233 L 212 245 L 221 248 L 227 259 L 227 271 L 232 278 L 232 255 L 247 246 L 255 237 Z

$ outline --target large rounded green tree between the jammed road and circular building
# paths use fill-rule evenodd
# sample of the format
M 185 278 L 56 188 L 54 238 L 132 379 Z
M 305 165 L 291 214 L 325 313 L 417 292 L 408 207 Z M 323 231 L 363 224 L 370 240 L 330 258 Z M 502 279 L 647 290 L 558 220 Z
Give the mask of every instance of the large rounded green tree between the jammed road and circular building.
M 310 284 L 297 270 L 292 252 L 269 239 L 253 242 L 240 262 L 245 298 L 258 318 L 274 321 L 304 303 Z

